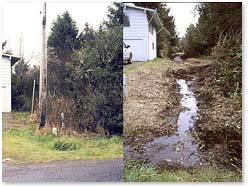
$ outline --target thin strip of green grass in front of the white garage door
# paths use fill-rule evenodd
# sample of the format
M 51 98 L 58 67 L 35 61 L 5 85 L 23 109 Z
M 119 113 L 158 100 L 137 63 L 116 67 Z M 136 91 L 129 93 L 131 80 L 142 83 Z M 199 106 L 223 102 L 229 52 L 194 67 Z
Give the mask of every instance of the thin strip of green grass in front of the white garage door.
M 161 59 L 161 58 L 156 58 L 154 60 L 150 60 L 147 62 L 143 63 L 133 63 L 130 65 L 125 65 L 124 66 L 124 73 L 129 74 L 131 72 L 135 72 L 139 70 L 139 68 L 142 67 L 157 67 L 157 68 L 168 68 L 173 65 L 173 61 L 170 59 Z

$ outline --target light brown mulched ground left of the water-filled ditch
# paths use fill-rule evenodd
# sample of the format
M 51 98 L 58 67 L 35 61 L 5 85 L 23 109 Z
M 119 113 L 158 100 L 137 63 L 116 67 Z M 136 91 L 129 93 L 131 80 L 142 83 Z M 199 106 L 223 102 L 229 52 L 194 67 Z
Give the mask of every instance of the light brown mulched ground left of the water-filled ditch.
M 131 149 L 138 152 L 143 151 L 146 142 L 169 135 L 177 128 L 180 94 L 175 72 L 207 62 L 190 59 L 180 64 L 168 60 L 161 60 L 159 65 L 155 63 L 154 66 L 139 64 L 139 68 L 127 75 L 128 98 L 124 100 L 123 108 L 124 145 L 131 145 Z

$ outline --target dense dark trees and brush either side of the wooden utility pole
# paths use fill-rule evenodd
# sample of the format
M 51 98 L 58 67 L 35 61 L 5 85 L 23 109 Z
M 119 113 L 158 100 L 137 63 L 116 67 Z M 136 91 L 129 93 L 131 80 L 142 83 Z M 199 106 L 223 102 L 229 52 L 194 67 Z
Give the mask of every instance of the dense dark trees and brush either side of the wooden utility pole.
M 59 15 L 48 37 L 47 74 L 47 126 L 61 127 L 64 113 L 67 129 L 122 134 L 122 4 L 109 6 L 96 30 L 86 23 L 79 31 L 69 12 Z M 34 79 L 39 119 L 39 69 L 24 59 L 12 74 L 12 108 L 31 111 Z

